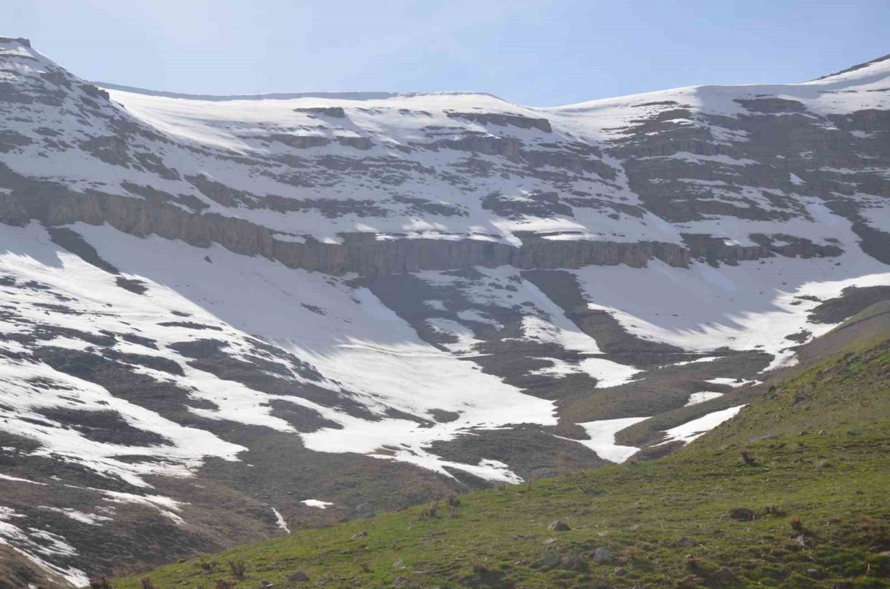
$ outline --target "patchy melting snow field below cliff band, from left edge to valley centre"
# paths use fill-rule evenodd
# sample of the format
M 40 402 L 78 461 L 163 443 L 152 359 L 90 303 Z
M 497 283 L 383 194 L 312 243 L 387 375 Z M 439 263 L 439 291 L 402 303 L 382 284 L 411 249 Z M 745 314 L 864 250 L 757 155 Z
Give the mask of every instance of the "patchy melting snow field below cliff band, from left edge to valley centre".
M 141 279 L 149 286 L 148 292 L 133 294 L 116 286 L 114 276 L 60 250 L 36 225 L 26 229 L 4 228 L 0 239 L 6 241 L 0 246 L 7 253 L 0 255 L 0 270 L 22 281 L 36 280 L 52 286 L 54 293 L 70 297 L 77 313 L 47 315 L 44 307 L 37 305 L 53 303 L 54 299 L 41 290 L 26 291 L 27 295 L 14 288 L 2 292 L 14 297 L 26 318 L 33 312 L 36 319 L 54 322 L 59 327 L 96 335 L 103 329 L 130 333 L 134 326 L 138 327 L 142 337 L 158 343 L 157 350 L 149 351 L 120 340 L 115 349 L 149 353 L 179 365 L 183 376 L 147 367 L 134 369 L 158 380 L 178 383 L 193 391 L 198 399 L 212 400 L 214 409 L 190 409 L 200 416 L 294 432 L 302 435 L 306 448 L 322 452 L 358 452 L 400 460 L 446 476 L 450 474 L 444 467 L 449 466 L 507 482 L 517 481 L 518 477 L 506 464 L 486 460 L 458 464 L 430 454 L 426 447 L 433 441 L 450 440 L 473 429 L 555 424 L 551 401 L 525 395 L 472 364 L 421 341 L 412 327 L 367 289 L 353 289 L 342 279 L 288 269 L 277 262 L 232 254 L 219 246 L 198 249 L 163 238 L 134 238 L 107 227 L 78 225 L 77 230 L 125 275 Z M 206 262 L 205 256 L 213 262 Z M 107 311 L 108 305 L 115 309 L 114 313 Z M 270 313 L 271 309 L 287 313 Z M 276 342 L 312 364 L 320 372 L 319 384 L 328 388 L 332 396 L 347 391 L 380 419 L 368 421 L 299 397 L 254 391 L 190 367 L 167 346 L 206 335 L 184 327 L 159 326 L 158 318 L 168 317 L 172 311 L 186 312 L 190 321 L 217 327 L 214 338 L 228 343 L 235 353 L 248 349 L 248 335 Z M 4 328 L 18 327 L 7 324 Z M 56 340 L 50 344 L 55 345 Z M 28 384 L 36 378 L 51 379 L 56 388 L 45 392 Z M 296 382 L 304 380 L 299 375 L 293 378 Z M 44 444 L 41 452 L 68 456 L 97 472 L 117 474 L 141 486 L 145 485 L 145 474 L 185 475 L 199 466 L 204 456 L 236 460 L 244 449 L 219 440 L 210 432 L 169 422 L 111 396 L 98 385 L 57 373 L 42 364 L 4 361 L 0 365 L 0 380 L 8 387 L 8 400 L 15 403 L 8 416 L 13 432 L 36 436 Z M 112 456 L 132 452 L 86 440 L 74 430 L 40 430 L 18 419 L 31 415 L 31 407 L 71 405 L 72 401 L 63 399 L 63 391 L 77 391 L 77 398 L 87 403 L 77 408 L 111 408 L 134 427 L 163 435 L 171 443 L 151 447 L 150 454 L 165 460 L 119 462 Z M 477 391 L 485 394 L 479 395 Z M 271 416 L 268 403 L 272 399 L 310 407 L 342 429 L 298 434 L 287 422 Z M 420 416 L 438 409 L 456 412 L 459 418 L 422 427 L 414 421 L 385 416 L 389 408 Z M 398 449 L 381 452 L 384 447 Z

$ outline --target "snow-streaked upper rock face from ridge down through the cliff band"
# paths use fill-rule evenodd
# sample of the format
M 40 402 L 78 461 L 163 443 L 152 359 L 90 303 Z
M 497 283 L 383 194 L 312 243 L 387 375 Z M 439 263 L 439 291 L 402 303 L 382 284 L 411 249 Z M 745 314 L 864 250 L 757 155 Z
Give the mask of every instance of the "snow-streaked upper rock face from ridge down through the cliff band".
M 845 245 L 825 242 L 813 216 L 825 214 L 890 255 L 878 221 L 890 119 L 872 87 L 887 61 L 804 85 L 558 109 L 486 95 L 472 110 L 450 109 L 447 94 L 256 101 L 259 131 L 221 101 L 107 92 L 20 40 L 3 47 L 15 71 L 4 222 L 107 222 L 369 276 L 837 255 Z M 195 102 L 197 128 L 181 110 Z M 69 172 L 38 173 L 38 157 Z

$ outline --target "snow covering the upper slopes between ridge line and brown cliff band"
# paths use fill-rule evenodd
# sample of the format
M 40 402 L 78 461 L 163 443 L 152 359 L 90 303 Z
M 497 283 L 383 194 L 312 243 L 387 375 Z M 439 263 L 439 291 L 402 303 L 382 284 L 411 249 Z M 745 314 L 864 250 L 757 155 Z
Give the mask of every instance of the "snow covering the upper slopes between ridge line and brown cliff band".
M 9 59 L 9 66 L 0 68 L 0 74 L 21 84 L 44 84 L 39 75 L 53 66 L 52 61 L 21 45 L 4 46 L 4 51 L 9 56 L 17 57 Z M 23 56 L 34 59 L 19 59 Z M 528 178 L 522 173 L 512 174 L 512 164 L 506 163 L 503 158 L 475 154 L 474 159 L 497 165 L 502 173 L 473 177 L 473 182 L 466 182 L 464 190 L 455 178 L 461 173 L 460 166 L 465 164 L 466 152 L 457 149 L 413 149 L 411 146 L 432 145 L 439 139 L 460 137 L 465 133 L 482 133 L 522 141 L 524 146 L 535 149 L 551 149 L 546 144 L 553 145 L 556 137 L 566 145 L 587 141 L 597 147 L 603 141 L 615 139 L 623 133 L 623 129 L 642 117 L 658 116 L 668 109 L 692 110 L 689 117 L 673 117 L 676 123 L 704 125 L 699 120 L 701 114 L 725 117 L 747 115 L 748 111 L 739 101 L 765 96 L 801 101 L 807 109 L 817 114 L 886 108 L 887 94 L 877 91 L 886 87 L 887 77 L 890 77 L 890 65 L 887 61 L 880 61 L 854 72 L 805 84 L 695 86 L 549 109 L 523 107 L 483 93 L 197 96 L 107 85 L 112 104 L 102 105 L 103 117 L 91 117 L 86 123 L 69 114 L 75 109 L 67 102 L 61 109 L 20 107 L 21 114 L 27 117 L 9 117 L 6 123 L 15 133 L 22 133 L 32 138 L 33 142 L 4 154 L 4 164 L 17 172 L 38 177 L 46 177 L 47 170 L 52 170 L 50 177 L 62 179 L 75 190 L 101 187 L 109 194 L 136 198 L 121 186 L 121 182 L 133 182 L 171 194 L 187 195 L 205 203 L 208 214 L 255 222 L 278 231 L 277 236 L 282 241 L 304 241 L 312 236 L 323 243 L 338 243 L 342 241 L 340 234 L 343 232 L 364 231 L 375 234 L 381 240 L 396 236 L 444 240 L 469 238 L 520 245 L 522 239 L 517 237 L 516 232 L 529 230 L 546 234 L 544 238 L 548 240 L 658 240 L 678 244 L 682 241 L 681 232 L 705 233 L 709 226 L 713 228 L 720 221 L 706 219 L 679 227 L 651 213 L 644 213 L 640 218 L 628 214 L 613 215 L 617 218 L 612 218 L 609 214 L 613 209 L 608 206 L 603 210 L 574 207 L 568 215 L 514 215 L 514 218 L 505 219 L 482 208 L 481 199 L 498 192 L 504 198 L 522 201 L 528 200 L 535 191 L 553 190 L 553 187 L 548 182 Z M 71 98 L 71 101 L 74 100 Z M 666 101 L 674 104 L 666 104 Z M 344 109 L 346 116 L 317 116 L 305 111 L 319 108 Z M 478 121 L 449 117 L 455 112 L 472 111 L 546 118 L 553 125 L 554 133 L 514 125 L 483 125 Z M 136 166 L 124 168 L 111 165 L 78 149 L 53 150 L 48 156 L 51 157 L 49 161 L 44 157 L 47 154 L 42 147 L 42 137 L 36 133 L 37 125 L 52 126 L 61 132 L 64 141 L 77 145 L 89 137 L 115 133 L 115 129 L 108 124 L 109 117 L 117 117 L 129 124 L 142 126 L 150 133 L 163 135 L 164 141 L 137 139 L 135 136 L 128 141 L 136 141 L 134 147 L 150 151 L 168 163 L 175 162 L 182 179 L 161 178 Z M 443 131 L 431 133 L 431 129 Z M 708 131 L 717 141 L 746 140 L 743 133 L 713 123 L 708 123 Z M 312 135 L 333 141 L 325 146 L 296 149 L 272 140 L 273 135 Z M 366 138 L 372 147 L 360 150 L 336 141 L 338 137 L 345 136 Z M 233 156 L 239 159 L 236 161 L 232 159 Z M 250 165 L 247 162 L 253 157 L 263 158 L 269 165 L 262 168 Z M 320 184 L 306 187 L 301 182 L 284 180 L 294 173 L 294 168 L 279 163 L 283 157 L 305 158 L 307 173 L 320 176 Z M 370 182 L 365 173 L 352 173 L 348 169 L 332 172 L 325 165 L 318 165 L 320 159 L 325 157 L 350 162 L 360 162 L 364 158 L 386 158 L 396 167 L 407 166 L 406 169 L 416 173 L 404 174 L 393 188 L 388 183 Z M 596 198 L 613 206 L 639 205 L 639 198 L 629 189 L 623 162 L 608 155 L 597 158 L 616 169 L 617 177 L 607 182 L 590 174 L 579 175 L 567 181 L 570 183 L 569 190 L 596 195 Z M 724 154 L 705 156 L 679 152 L 666 158 L 732 168 L 752 165 L 749 159 Z M 431 170 L 449 171 L 445 175 L 450 175 L 451 179 L 441 177 L 440 173 L 429 173 Z M 374 202 L 385 213 L 368 217 L 347 210 L 343 214 L 328 215 L 312 207 L 281 212 L 263 207 L 223 206 L 206 198 L 184 179 L 196 174 L 204 174 L 258 197 L 276 195 L 345 202 L 360 195 L 361 199 Z M 797 182 L 796 178 L 794 174 L 789 175 L 792 182 Z M 796 190 L 802 190 L 801 186 L 798 184 Z M 411 195 L 412 198 L 456 206 L 465 214 L 417 214 L 395 203 L 392 200 L 393 190 L 397 190 L 400 196 Z M 731 200 L 737 205 L 742 196 L 765 209 L 773 207 L 761 190 L 752 187 L 742 187 L 740 195 L 719 188 L 714 193 L 716 199 Z M 776 226 L 781 225 L 765 223 L 773 226 L 773 231 L 768 231 L 756 227 L 757 222 L 730 224 L 734 225 L 734 234 L 725 237 L 739 243 L 744 243 L 749 233 L 775 232 Z M 724 223 L 723 229 L 725 227 Z

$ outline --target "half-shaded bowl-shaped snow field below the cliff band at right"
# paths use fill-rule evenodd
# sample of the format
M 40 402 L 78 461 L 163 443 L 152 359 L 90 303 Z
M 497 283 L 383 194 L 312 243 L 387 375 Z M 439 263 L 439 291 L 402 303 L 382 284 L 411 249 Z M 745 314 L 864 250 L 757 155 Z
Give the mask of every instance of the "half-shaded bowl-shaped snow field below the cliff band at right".
M 811 206 L 817 220 L 824 217 L 820 210 Z M 808 319 L 820 301 L 839 296 L 847 286 L 890 285 L 890 268 L 863 254 L 849 227 L 830 232 L 845 238 L 848 253 L 806 260 L 774 257 L 720 268 L 692 262 L 686 270 L 651 261 L 642 270 L 589 266 L 572 272 L 588 307 L 608 311 L 633 335 L 686 351 L 765 351 L 773 355 L 765 368 L 771 370 L 796 361 L 792 348 L 799 342 L 789 335 L 808 332 L 813 338 L 835 327 Z

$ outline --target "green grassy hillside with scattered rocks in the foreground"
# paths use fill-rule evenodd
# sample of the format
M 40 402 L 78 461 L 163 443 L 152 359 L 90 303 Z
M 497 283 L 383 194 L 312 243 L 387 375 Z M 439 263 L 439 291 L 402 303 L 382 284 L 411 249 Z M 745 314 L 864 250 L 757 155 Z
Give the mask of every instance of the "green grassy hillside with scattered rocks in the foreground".
M 150 579 L 213 587 L 243 561 L 242 587 L 886 587 L 888 551 L 878 341 L 798 370 L 675 456 L 301 530 Z

